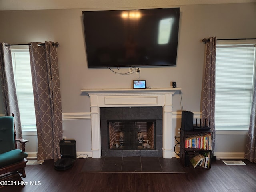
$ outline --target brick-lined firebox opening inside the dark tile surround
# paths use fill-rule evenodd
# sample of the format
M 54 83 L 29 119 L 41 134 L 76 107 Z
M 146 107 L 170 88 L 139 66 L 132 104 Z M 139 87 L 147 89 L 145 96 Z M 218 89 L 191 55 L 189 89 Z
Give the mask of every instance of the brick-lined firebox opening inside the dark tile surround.
M 108 149 L 155 150 L 156 120 L 108 120 Z

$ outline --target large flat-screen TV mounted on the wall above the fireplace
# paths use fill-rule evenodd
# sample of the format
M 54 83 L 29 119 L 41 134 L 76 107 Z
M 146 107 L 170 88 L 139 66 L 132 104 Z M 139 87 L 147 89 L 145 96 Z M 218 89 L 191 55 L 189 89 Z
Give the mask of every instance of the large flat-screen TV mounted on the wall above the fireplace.
M 83 11 L 87 63 L 175 66 L 180 8 Z

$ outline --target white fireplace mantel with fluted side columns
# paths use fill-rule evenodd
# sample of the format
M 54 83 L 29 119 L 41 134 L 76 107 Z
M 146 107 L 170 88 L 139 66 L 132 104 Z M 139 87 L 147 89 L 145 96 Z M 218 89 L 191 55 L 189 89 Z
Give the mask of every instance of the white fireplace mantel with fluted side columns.
M 163 107 L 163 158 L 172 158 L 172 95 L 180 88 L 82 89 L 90 96 L 92 158 L 101 157 L 100 107 Z

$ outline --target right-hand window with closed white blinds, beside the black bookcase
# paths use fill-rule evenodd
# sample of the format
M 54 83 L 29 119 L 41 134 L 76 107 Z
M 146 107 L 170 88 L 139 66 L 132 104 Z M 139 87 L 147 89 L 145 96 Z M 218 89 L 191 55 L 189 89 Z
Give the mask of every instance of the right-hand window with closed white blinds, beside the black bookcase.
M 216 47 L 216 130 L 248 130 L 256 40 L 218 40 Z

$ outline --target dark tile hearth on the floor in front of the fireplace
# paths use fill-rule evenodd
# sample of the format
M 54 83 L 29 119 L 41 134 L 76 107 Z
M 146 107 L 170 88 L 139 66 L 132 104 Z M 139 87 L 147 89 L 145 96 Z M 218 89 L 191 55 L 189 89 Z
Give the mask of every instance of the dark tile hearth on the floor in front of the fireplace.
M 90 157 L 81 172 L 185 173 L 177 158 L 162 157 Z

